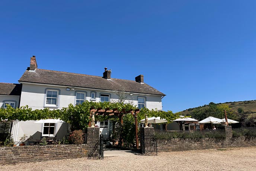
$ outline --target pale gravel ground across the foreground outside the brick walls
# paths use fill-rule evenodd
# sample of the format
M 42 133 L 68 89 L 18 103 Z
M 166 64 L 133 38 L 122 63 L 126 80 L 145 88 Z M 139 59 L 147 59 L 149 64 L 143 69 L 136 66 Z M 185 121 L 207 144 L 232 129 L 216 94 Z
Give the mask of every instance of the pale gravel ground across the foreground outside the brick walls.
M 127 153 L 103 160 L 87 158 L 1 165 L 1 171 L 255 171 L 256 147 L 160 152 L 157 156 Z

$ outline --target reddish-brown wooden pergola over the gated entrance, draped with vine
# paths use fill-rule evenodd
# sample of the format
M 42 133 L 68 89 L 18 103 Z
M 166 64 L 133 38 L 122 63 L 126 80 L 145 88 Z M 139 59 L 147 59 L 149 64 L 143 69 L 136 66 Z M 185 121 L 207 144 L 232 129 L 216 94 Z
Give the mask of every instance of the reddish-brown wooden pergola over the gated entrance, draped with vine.
M 122 111 L 118 111 L 117 108 L 110 110 L 109 108 L 102 109 L 101 107 L 98 109 L 94 109 L 93 107 L 90 108 L 90 119 L 92 117 L 92 114 L 95 115 L 102 115 L 102 116 L 117 116 L 119 118 L 119 121 L 121 122 L 121 125 L 123 125 L 123 116 L 125 114 L 131 113 L 134 116 L 135 120 L 135 136 L 136 136 L 136 148 L 139 148 L 139 141 L 138 141 L 138 120 L 137 120 L 137 114 L 140 112 L 140 109 L 136 110 L 125 110 L 122 109 Z M 92 126 L 92 123 L 89 122 L 89 127 Z M 120 137 L 120 142 L 122 142 L 123 139 Z

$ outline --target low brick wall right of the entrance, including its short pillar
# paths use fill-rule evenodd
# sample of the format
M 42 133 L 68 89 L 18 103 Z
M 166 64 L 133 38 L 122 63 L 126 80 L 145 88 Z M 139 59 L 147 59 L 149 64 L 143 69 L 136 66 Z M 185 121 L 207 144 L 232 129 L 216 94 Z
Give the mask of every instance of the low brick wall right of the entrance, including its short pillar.
M 157 139 L 158 151 L 184 151 L 196 149 L 218 149 L 230 147 L 256 146 L 256 138 L 232 138 L 231 126 L 225 126 L 226 138 L 173 138 Z

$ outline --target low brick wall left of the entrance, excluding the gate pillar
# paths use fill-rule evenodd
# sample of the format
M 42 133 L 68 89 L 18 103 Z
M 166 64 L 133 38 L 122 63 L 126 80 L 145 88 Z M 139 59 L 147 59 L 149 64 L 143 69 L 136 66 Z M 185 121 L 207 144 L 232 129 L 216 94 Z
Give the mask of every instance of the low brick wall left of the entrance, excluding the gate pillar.
M 15 164 L 87 157 L 88 151 L 86 144 L 0 147 L 0 163 Z

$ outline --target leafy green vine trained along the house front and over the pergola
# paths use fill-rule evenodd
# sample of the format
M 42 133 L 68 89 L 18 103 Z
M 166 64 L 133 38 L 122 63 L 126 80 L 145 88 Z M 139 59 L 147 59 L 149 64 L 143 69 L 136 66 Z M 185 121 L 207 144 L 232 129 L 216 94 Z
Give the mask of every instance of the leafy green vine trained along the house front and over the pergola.
M 84 103 L 73 106 L 73 104 L 69 104 L 68 107 L 63 107 L 62 109 L 50 110 L 48 108 L 45 109 L 35 109 L 32 110 L 28 106 L 22 106 L 20 108 L 12 108 L 7 104 L 7 108 L 0 108 L 0 118 L 7 119 L 7 120 L 40 120 L 40 119 L 61 119 L 64 122 L 68 122 L 73 126 L 73 130 L 75 129 L 82 129 L 88 127 L 88 123 L 90 122 L 90 108 L 93 107 L 94 109 L 102 108 L 106 109 L 109 108 L 110 110 L 117 109 L 118 111 L 125 111 L 135 110 L 137 109 L 136 106 L 129 104 L 129 103 L 111 103 L 111 102 L 93 102 L 93 101 L 84 101 Z M 138 122 L 141 119 L 145 118 L 145 114 L 148 117 L 157 117 L 160 116 L 171 123 L 172 120 L 179 118 L 180 113 L 173 113 L 172 111 L 158 111 L 149 110 L 147 108 L 143 108 L 138 113 Z M 103 120 L 112 120 L 114 122 L 118 122 L 118 118 L 116 116 L 95 116 L 96 120 L 103 121 Z M 131 119 L 130 119 L 131 121 Z M 134 123 L 134 121 L 133 121 Z

